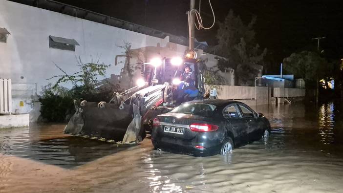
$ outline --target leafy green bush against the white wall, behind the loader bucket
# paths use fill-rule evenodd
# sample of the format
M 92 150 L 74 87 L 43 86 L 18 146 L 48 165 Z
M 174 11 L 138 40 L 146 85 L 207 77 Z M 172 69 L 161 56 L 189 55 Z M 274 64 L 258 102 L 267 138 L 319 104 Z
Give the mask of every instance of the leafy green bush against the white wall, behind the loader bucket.
M 54 86 L 48 84 L 43 87 L 41 102 L 41 115 L 43 121 L 64 122 L 69 121 L 75 113 L 74 100 L 89 102 L 108 102 L 111 97 L 112 89 L 100 89 L 97 87 L 98 76 L 104 76 L 106 69 L 110 65 L 98 64 L 99 58 L 91 60 L 90 63 L 83 63 L 81 58 L 76 58 L 79 71 L 69 75 L 60 66 L 55 66 L 62 72 L 62 75 L 53 76 L 47 80 L 58 78 Z M 72 89 L 60 86 L 61 83 L 72 83 Z

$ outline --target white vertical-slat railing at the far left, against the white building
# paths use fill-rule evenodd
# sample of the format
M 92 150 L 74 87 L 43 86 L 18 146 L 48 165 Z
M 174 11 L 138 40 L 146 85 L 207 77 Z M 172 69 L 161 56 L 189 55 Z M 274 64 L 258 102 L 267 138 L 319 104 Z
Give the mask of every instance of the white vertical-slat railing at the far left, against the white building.
M 12 81 L 0 79 L 0 113 L 11 114 L 12 111 Z

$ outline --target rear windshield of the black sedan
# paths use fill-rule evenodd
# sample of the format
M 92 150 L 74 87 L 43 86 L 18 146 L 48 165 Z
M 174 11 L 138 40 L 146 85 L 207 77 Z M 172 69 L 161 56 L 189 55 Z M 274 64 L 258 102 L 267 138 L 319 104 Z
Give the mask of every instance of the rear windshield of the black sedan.
M 212 117 L 214 114 L 215 108 L 216 106 L 212 104 L 185 103 L 174 108 L 171 112 Z

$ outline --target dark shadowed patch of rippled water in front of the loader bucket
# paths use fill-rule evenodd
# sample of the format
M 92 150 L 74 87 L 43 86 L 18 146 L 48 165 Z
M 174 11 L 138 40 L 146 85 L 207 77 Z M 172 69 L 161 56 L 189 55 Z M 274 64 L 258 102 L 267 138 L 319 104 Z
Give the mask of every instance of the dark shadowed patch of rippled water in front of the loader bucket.
M 0 133 L 0 152 L 63 168 L 74 168 L 132 147 L 75 136 L 40 140 L 37 134 L 41 135 L 44 130 L 33 130 L 35 128 L 28 127 L 4 130 Z

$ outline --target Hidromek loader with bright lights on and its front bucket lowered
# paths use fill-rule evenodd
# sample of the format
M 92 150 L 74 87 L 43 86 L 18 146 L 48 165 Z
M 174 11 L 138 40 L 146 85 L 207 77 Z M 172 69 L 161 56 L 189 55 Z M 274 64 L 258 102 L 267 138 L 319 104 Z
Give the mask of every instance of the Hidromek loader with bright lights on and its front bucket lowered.
M 188 65 L 195 75 L 198 89 L 195 99 L 205 92 L 196 52 L 186 52 L 184 58 L 152 59 L 142 65 L 143 79 L 108 102 L 74 102 L 76 113 L 65 126 L 64 133 L 118 144 L 142 141 L 159 114 L 175 107 L 173 93 L 180 83 L 181 73 Z M 128 97 L 129 96 L 129 97 Z M 127 98 L 122 102 L 123 98 Z

